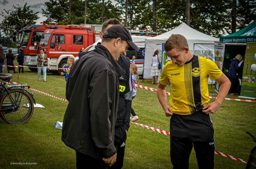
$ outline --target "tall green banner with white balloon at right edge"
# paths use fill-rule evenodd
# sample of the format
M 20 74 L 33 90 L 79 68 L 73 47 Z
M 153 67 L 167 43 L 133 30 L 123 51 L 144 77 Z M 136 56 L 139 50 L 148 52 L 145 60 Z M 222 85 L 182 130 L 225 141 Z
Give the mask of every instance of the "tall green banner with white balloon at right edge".
M 243 79 L 239 97 L 256 98 L 256 43 L 246 43 Z

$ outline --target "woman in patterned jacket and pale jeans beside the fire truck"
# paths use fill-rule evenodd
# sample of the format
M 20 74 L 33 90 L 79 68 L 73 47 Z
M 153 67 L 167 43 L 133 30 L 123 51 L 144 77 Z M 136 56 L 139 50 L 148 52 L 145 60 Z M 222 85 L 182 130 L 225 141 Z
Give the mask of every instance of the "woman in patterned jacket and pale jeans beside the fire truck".
M 37 77 L 38 81 L 41 79 L 41 72 L 43 70 L 44 81 L 46 81 L 46 67 L 48 66 L 47 55 L 44 54 L 44 49 L 40 50 L 40 54 L 37 55 Z

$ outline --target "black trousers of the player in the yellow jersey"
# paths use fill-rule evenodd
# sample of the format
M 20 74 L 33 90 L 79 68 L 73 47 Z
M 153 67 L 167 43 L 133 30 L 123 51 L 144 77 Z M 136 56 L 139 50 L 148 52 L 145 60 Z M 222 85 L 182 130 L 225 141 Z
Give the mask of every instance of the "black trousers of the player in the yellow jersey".
M 186 169 L 194 145 L 199 169 L 214 168 L 214 129 L 209 114 L 173 114 L 170 119 L 170 158 L 174 169 Z

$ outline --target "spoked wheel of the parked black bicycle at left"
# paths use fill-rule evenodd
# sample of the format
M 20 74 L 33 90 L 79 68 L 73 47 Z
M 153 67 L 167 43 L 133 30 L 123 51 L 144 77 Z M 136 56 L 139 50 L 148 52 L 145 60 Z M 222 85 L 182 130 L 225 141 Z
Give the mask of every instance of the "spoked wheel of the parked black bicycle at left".
M 9 124 L 26 123 L 34 112 L 30 94 L 21 89 L 14 89 L 9 93 L 5 93 L 1 98 L 1 117 Z

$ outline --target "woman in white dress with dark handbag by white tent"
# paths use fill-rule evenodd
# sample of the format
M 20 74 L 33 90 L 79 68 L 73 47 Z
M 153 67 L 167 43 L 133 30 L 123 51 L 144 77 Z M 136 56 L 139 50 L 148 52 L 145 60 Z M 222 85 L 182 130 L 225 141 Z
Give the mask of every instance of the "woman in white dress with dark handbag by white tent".
M 161 62 L 158 57 L 159 50 L 155 50 L 154 55 L 152 56 L 152 65 L 151 65 L 151 73 L 152 76 L 152 84 L 157 84 L 158 76 L 161 75 L 160 69 L 161 69 Z M 156 82 L 155 82 L 156 79 Z

